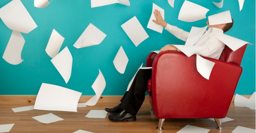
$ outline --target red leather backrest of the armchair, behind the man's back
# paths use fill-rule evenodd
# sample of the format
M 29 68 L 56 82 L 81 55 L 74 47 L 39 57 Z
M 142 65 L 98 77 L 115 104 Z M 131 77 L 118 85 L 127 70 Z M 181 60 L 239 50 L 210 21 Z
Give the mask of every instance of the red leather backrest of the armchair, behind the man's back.
M 233 51 L 226 45 L 219 60 L 240 66 L 246 46 L 247 44 Z

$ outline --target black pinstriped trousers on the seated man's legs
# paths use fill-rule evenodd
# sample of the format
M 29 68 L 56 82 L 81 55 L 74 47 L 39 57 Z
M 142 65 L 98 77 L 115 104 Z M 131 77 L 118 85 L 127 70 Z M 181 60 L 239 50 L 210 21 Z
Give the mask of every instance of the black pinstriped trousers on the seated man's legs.
M 151 78 L 152 69 L 140 69 L 134 81 L 121 99 L 121 108 L 126 112 L 136 115 L 144 102 L 148 80 Z

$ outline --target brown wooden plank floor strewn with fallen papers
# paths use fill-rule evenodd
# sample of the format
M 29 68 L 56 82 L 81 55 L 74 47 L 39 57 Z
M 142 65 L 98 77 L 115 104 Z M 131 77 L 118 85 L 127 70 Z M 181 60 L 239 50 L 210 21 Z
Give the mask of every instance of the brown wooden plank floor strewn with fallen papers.
M 15 123 L 10 133 L 73 133 L 82 129 L 94 133 L 176 133 L 187 124 L 210 129 L 209 133 L 231 133 L 237 126 L 255 129 L 255 110 L 247 107 L 236 107 L 231 103 L 227 117 L 233 121 L 222 123 L 224 130 L 215 129 L 215 122 L 210 119 L 166 119 L 164 130 L 157 131 L 158 119 L 150 112 L 146 98 L 135 122 L 115 123 L 106 118 L 86 118 L 90 110 L 104 110 L 116 106 L 120 96 L 103 96 L 95 106 L 78 108 L 78 112 L 31 110 L 14 113 L 11 108 L 34 105 L 36 96 L 0 96 L 0 124 Z M 81 97 L 80 102 L 90 97 Z M 42 124 L 32 117 L 53 113 L 63 121 Z

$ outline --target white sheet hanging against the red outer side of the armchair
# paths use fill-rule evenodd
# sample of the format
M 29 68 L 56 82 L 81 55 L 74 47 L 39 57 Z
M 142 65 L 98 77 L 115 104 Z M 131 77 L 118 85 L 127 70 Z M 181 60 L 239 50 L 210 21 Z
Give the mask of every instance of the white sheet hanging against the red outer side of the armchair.
M 196 69 L 207 80 L 210 78 L 211 70 L 213 70 L 214 64 L 215 62 L 206 60 L 200 55 L 196 55 Z

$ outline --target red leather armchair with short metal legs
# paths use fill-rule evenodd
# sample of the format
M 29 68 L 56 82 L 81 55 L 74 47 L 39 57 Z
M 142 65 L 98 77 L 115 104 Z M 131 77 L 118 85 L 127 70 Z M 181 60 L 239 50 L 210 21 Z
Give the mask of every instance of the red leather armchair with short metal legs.
M 217 129 L 223 130 L 225 118 L 239 77 L 240 66 L 247 45 L 232 51 L 225 46 L 215 62 L 209 80 L 196 70 L 196 55 L 187 57 L 182 52 L 150 53 L 146 67 L 152 66 L 148 81 L 148 97 L 162 130 L 166 118 L 214 118 Z

